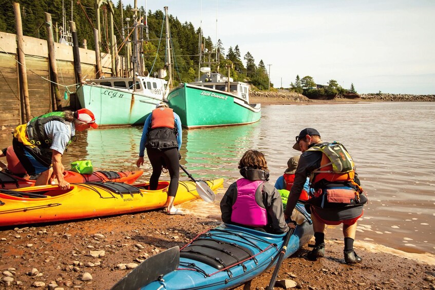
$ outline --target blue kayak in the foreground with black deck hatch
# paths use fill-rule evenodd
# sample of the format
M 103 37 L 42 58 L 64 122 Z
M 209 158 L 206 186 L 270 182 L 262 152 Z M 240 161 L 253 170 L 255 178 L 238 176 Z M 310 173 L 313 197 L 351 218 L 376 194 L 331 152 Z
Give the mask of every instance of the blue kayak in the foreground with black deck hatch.
M 297 225 L 290 238 L 285 254 L 286 258 L 294 254 L 302 245 L 308 243 L 312 236 L 313 228 L 307 220 Z M 142 286 L 141 289 L 231 289 L 252 280 L 274 266 L 285 237 L 285 234 L 273 235 L 235 225 L 222 224 L 201 234 L 183 247 L 184 249 L 182 248 L 180 251 L 179 266 L 176 270 L 163 275 L 161 279 Z M 238 258 L 242 262 L 228 267 L 223 265 L 221 269 L 218 269 L 212 264 L 219 264 L 219 261 L 225 263 L 225 255 L 223 253 L 221 256 L 216 254 L 217 246 L 210 244 L 203 248 L 195 246 L 195 241 L 210 243 L 211 240 L 216 241 L 215 245 L 236 244 L 240 249 L 250 252 L 251 258 L 243 259 L 240 255 Z M 192 250 L 193 253 L 188 252 L 189 247 L 196 247 Z M 237 250 L 230 248 L 231 246 L 228 246 L 226 250 L 232 256 L 237 257 Z M 207 257 L 201 257 L 198 254 L 207 253 L 207 251 L 208 255 L 205 254 L 205 256 L 214 257 L 212 260 L 215 261 L 209 260 L 207 262 Z M 195 257 L 200 258 L 195 259 Z

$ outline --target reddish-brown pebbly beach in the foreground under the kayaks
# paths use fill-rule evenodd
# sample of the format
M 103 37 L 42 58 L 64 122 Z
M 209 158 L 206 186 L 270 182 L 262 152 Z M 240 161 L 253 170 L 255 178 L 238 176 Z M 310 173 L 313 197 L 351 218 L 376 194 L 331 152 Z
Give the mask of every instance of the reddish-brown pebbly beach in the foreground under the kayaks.
M 186 210 L 188 211 L 188 210 Z M 140 262 L 182 246 L 219 217 L 168 216 L 147 211 L 107 218 L 24 225 L 0 231 L 0 289 L 109 289 Z M 304 245 L 283 261 L 282 286 L 298 289 L 435 289 L 435 263 L 422 263 L 364 249 L 355 243 L 361 264 L 347 265 L 343 241 L 327 241 L 325 258 L 305 259 Z M 264 290 L 273 268 L 234 289 Z M 292 280 L 292 281 L 290 281 Z

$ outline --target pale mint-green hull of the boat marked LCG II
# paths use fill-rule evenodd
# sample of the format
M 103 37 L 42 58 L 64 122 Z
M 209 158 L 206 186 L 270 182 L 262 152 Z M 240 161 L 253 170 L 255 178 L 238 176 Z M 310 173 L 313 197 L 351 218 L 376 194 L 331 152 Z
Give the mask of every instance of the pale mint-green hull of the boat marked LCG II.
M 128 90 L 83 84 L 77 89 L 82 108 L 89 109 L 99 126 L 143 125 L 161 98 Z

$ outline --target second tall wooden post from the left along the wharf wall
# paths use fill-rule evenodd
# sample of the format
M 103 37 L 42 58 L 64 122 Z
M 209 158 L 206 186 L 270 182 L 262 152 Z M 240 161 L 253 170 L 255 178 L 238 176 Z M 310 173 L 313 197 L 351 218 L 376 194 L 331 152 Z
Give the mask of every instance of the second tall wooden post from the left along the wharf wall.
M 47 25 L 47 44 L 48 60 L 50 63 L 51 88 L 53 96 L 52 110 L 62 110 L 61 93 L 59 91 L 58 66 L 56 65 L 56 50 L 54 49 L 53 25 L 51 23 L 51 14 L 45 12 L 45 23 Z

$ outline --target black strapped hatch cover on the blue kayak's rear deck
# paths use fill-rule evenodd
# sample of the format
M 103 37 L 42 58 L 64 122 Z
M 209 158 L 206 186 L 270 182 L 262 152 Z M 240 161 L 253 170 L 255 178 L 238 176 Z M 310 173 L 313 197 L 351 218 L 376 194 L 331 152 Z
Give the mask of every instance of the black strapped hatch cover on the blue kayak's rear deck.
M 180 251 L 180 257 L 196 260 L 218 270 L 253 256 L 250 249 L 215 239 L 197 239 Z

